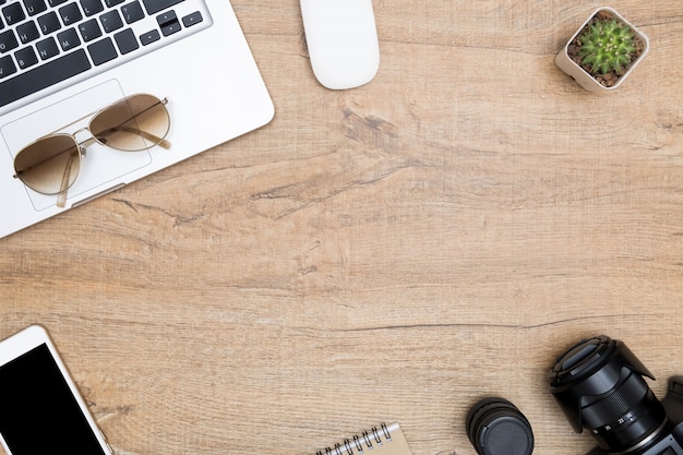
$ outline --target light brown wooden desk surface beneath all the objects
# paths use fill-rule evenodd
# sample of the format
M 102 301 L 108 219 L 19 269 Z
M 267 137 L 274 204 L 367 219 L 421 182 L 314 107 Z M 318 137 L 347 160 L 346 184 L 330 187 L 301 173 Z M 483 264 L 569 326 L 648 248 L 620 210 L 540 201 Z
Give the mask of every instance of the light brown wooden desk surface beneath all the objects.
M 500 395 L 584 454 L 548 393 L 582 336 L 683 373 L 683 15 L 616 93 L 554 55 L 598 3 L 374 1 L 369 85 L 315 82 L 297 0 L 233 0 L 276 117 L 0 240 L 0 337 L 52 334 L 120 455 L 314 454 L 398 421 L 474 455 Z

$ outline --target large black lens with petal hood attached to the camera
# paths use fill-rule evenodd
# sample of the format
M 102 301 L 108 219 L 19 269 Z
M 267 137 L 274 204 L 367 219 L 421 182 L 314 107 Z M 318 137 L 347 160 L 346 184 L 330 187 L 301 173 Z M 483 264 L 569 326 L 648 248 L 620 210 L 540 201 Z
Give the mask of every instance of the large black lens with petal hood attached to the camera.
M 576 432 L 606 452 L 643 453 L 664 434 L 667 415 L 645 379 L 655 379 L 622 342 L 600 335 L 560 356 L 550 392 Z

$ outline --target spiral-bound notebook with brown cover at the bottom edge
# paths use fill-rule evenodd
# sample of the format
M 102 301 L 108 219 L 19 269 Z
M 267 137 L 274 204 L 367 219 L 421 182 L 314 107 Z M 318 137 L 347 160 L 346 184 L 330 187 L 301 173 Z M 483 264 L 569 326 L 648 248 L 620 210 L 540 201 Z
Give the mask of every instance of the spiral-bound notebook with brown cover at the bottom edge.
M 316 455 L 412 455 L 398 423 L 373 427 L 345 439 Z

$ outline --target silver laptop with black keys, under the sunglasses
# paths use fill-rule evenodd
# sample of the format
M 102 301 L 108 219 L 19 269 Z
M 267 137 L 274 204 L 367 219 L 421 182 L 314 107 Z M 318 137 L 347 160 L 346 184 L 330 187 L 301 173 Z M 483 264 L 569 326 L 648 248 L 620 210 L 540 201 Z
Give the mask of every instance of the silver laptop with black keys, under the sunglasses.
M 89 118 L 136 94 L 166 103 L 169 146 L 130 153 L 91 144 Z M 228 0 L 0 0 L 0 238 L 273 116 Z M 28 188 L 14 168 L 22 148 L 55 133 L 88 142 L 61 204 Z

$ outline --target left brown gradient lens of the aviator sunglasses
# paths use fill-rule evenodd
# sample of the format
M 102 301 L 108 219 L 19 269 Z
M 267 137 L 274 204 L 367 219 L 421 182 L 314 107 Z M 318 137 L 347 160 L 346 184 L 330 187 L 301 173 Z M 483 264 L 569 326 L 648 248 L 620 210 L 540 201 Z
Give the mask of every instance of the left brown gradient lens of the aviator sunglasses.
M 28 188 L 59 194 L 73 184 L 81 169 L 79 144 L 68 134 L 44 137 L 14 158 L 14 171 Z

